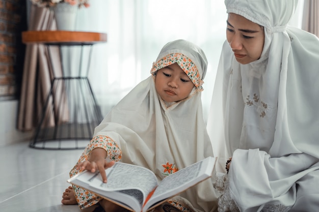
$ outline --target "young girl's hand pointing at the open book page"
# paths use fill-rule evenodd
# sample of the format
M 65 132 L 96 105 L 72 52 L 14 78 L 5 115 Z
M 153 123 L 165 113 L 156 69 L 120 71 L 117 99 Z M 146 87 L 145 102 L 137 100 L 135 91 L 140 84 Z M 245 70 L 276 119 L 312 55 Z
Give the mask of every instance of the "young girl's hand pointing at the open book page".
M 114 161 L 109 162 L 105 160 L 107 155 L 107 152 L 103 148 L 95 148 L 91 151 L 89 160 L 78 163 L 76 167 L 80 170 L 91 172 L 99 170 L 103 183 L 107 183 L 107 174 L 105 174 L 104 170 L 114 165 Z

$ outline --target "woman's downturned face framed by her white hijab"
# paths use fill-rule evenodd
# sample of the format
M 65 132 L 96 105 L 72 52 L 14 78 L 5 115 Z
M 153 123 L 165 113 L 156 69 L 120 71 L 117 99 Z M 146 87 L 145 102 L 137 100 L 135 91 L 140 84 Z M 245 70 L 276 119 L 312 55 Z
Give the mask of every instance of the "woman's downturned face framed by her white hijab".
M 262 26 L 229 13 L 226 37 L 238 63 L 249 64 L 259 59 L 264 43 Z

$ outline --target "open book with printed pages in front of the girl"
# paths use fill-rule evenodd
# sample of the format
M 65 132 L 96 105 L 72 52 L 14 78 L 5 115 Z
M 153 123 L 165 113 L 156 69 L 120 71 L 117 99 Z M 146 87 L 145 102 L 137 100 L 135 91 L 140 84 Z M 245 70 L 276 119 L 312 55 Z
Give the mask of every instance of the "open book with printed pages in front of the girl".
M 155 174 L 144 167 L 116 162 L 105 169 L 108 183 L 99 172 L 83 171 L 67 181 L 130 211 L 148 211 L 167 199 L 209 178 L 216 159 L 208 157 L 165 177 L 158 184 Z

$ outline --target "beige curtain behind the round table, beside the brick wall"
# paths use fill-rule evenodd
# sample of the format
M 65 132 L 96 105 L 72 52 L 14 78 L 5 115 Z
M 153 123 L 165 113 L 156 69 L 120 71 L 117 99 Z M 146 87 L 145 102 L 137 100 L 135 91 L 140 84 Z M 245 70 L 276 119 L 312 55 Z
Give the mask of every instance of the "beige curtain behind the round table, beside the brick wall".
M 56 29 L 53 13 L 47 8 L 40 8 L 31 5 L 29 17 L 30 31 L 43 31 Z M 60 56 L 59 50 L 53 49 L 51 55 L 55 58 L 55 74 L 61 75 L 59 68 Z M 21 97 L 19 104 L 19 113 L 17 128 L 21 131 L 33 130 L 40 122 L 42 108 L 45 104 L 47 95 L 51 87 L 53 70 L 49 66 L 47 51 L 42 44 L 26 45 L 24 68 L 22 76 Z M 54 114 L 46 117 L 45 123 L 54 126 Z

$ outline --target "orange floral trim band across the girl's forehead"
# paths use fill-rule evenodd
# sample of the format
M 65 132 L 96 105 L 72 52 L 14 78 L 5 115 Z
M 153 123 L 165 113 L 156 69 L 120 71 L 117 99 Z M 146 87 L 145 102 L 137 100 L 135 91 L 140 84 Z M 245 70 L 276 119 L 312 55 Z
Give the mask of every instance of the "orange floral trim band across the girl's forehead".
M 153 64 L 151 74 L 154 75 L 157 70 L 165 68 L 174 63 L 178 64 L 178 66 L 188 75 L 197 88 L 202 89 L 203 81 L 200 79 L 199 71 L 196 65 L 190 58 L 181 53 L 172 53 L 158 60 Z

